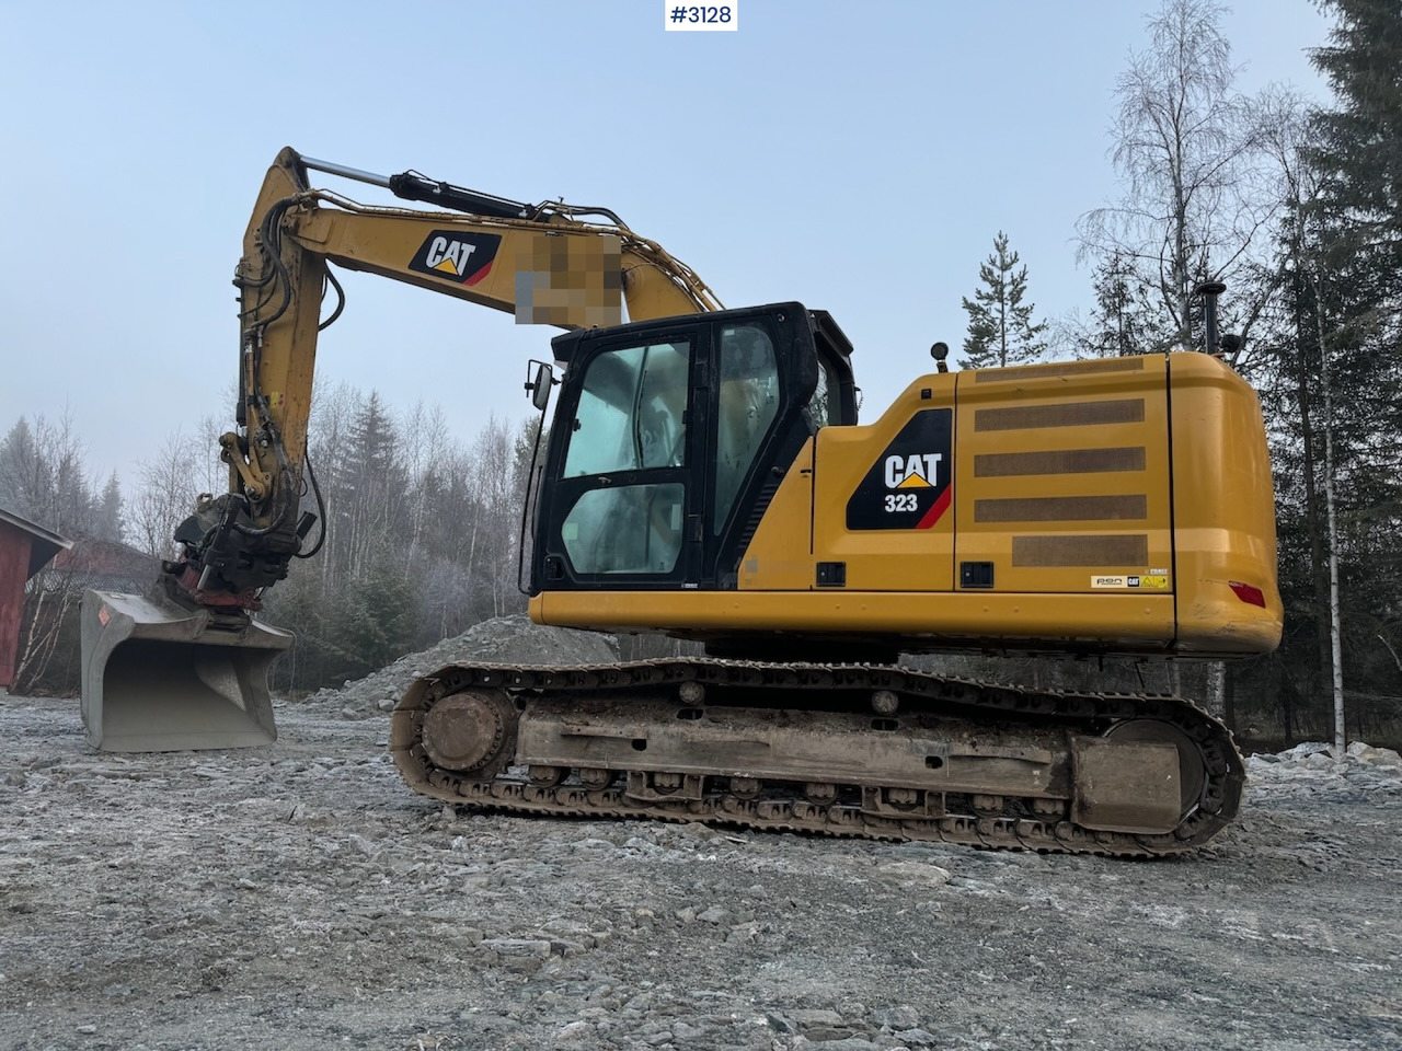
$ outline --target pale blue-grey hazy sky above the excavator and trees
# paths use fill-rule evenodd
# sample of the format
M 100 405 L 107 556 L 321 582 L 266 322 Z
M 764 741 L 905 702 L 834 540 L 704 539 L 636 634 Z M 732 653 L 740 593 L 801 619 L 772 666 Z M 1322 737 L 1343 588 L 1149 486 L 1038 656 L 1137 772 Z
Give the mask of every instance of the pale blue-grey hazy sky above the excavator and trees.
M 282 146 L 515 198 L 603 205 L 729 307 L 801 300 L 857 346 L 864 419 L 958 348 L 1005 230 L 1039 315 L 1089 304 L 1075 221 L 1117 195 L 1112 91 L 1157 0 L 656 0 L 0 7 L 0 434 L 72 418 L 130 496 L 177 427 L 229 419 L 230 286 Z M 1239 87 L 1325 88 L 1308 0 L 1238 0 Z M 372 186 L 317 177 L 366 202 Z M 318 373 L 523 419 L 552 329 L 363 275 Z M 210 455 L 216 454 L 210 450 Z

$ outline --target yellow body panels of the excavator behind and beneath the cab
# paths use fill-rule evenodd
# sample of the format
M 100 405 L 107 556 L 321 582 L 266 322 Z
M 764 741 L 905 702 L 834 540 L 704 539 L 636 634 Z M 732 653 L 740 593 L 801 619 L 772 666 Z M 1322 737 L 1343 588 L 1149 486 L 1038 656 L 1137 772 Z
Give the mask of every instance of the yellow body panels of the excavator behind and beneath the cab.
M 1276 646 L 1281 608 L 1265 430 L 1255 394 L 1235 373 L 1203 355 L 1175 353 L 1099 373 L 1018 370 L 1000 380 L 924 376 L 872 423 L 819 430 L 765 510 L 742 559 L 737 590 L 551 591 L 531 601 L 531 615 L 562 626 L 702 639 L 764 632 L 894 638 L 910 650 L 1228 657 Z M 1094 408 L 1101 402 L 1112 408 Z M 1077 422 L 1137 402 L 1141 420 Z M 1067 404 L 1092 408 L 1068 426 L 976 427 L 980 409 L 1032 408 L 1037 419 L 1066 420 Z M 896 434 L 916 412 L 945 406 L 955 412 L 955 471 L 952 503 L 939 523 L 930 530 L 848 530 L 848 499 Z M 1141 469 L 980 478 L 974 467 L 984 454 L 1059 450 L 1067 451 L 1064 462 L 1084 467 L 1087 451 L 1126 448 L 1144 450 Z M 1126 495 L 1144 497 L 1143 520 L 974 521 L 976 500 Z M 1015 506 L 1039 513 L 1046 504 Z M 1068 549 L 1095 552 L 1124 535 L 1147 538 L 1133 563 L 1014 565 L 1018 538 L 1070 538 L 1078 547 Z M 995 586 L 960 590 L 965 561 L 991 562 Z M 847 586 L 819 587 L 817 562 L 845 563 Z M 1164 569 L 1148 573 L 1145 566 Z M 1096 589 L 1098 577 L 1123 583 Z M 1232 580 L 1259 587 L 1266 608 L 1242 603 Z

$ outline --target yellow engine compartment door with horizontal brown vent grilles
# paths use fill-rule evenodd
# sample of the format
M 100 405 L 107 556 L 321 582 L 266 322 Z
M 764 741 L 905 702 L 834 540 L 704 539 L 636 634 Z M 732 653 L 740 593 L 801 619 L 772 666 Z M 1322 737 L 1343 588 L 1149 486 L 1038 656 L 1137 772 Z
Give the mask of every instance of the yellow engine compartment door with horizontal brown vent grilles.
M 956 584 L 1168 594 L 1162 355 L 958 374 Z

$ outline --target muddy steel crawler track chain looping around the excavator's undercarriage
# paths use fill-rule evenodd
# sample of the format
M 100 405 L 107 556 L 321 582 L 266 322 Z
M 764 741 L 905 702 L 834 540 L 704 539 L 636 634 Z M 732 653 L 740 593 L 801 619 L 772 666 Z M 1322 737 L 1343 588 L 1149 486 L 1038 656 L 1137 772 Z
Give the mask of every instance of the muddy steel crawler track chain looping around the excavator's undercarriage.
M 492 705 L 484 705 L 481 713 L 474 713 L 477 722 L 491 727 L 477 736 L 491 740 L 464 746 L 470 758 L 457 765 L 475 765 L 454 769 L 453 757 L 444 760 L 442 747 L 435 748 L 432 743 L 426 747 L 425 724 L 447 710 L 440 709 L 439 716 L 433 716 L 435 706 L 450 698 L 471 696 L 472 691 L 488 691 L 510 703 L 496 702 L 505 715 Z M 1046 799 L 952 793 L 941 797 L 934 813 L 904 814 L 894 813 L 890 806 L 864 804 L 862 799 L 873 796 L 862 793 L 871 793 L 873 786 L 844 783 L 840 778 L 833 779 L 831 799 L 815 799 L 812 792 L 805 793 L 802 782 L 794 779 L 736 779 L 733 771 L 728 774 L 716 768 L 693 778 L 690 797 L 667 799 L 658 792 L 639 792 L 632 781 L 639 771 L 604 772 L 585 764 L 523 771 L 510 765 L 517 758 L 517 726 L 512 720 L 530 720 L 536 710 L 533 706 L 554 703 L 568 709 L 593 705 L 627 712 L 629 706 L 641 706 L 659 696 L 701 698 L 728 692 L 750 698 L 747 706 L 771 712 L 824 709 L 830 713 L 871 715 L 852 698 L 871 696 L 876 691 L 893 696 L 903 715 L 916 713 L 927 724 L 931 719 L 962 720 L 963 724 L 974 720 L 990 727 L 1040 724 L 1091 737 L 1102 737 L 1127 723 L 1161 727 L 1180 743 L 1185 775 L 1192 778 L 1192 799 L 1185 799 L 1183 813 L 1172 831 L 1145 834 L 1078 825 L 1070 820 L 1074 807 L 1049 813 L 1052 807 Z M 820 720 L 823 716 L 815 717 Z M 765 831 L 1122 858 L 1165 856 L 1202 846 L 1235 817 L 1245 783 L 1244 764 L 1231 733 L 1182 698 L 1036 691 L 865 664 L 767 664 L 714 659 L 576 667 L 454 664 L 416 680 L 408 689 L 393 715 L 390 747 L 400 772 L 415 790 L 474 809 L 561 817 L 704 821 Z M 478 751 L 485 755 L 481 762 Z M 530 762 L 530 757 L 524 761 Z M 1193 769 L 1195 764 L 1200 764 L 1200 771 Z M 642 775 L 645 781 L 670 778 L 659 782 L 666 785 L 683 781 L 666 769 L 645 771 Z M 812 785 L 808 788 L 812 789 Z M 885 793 L 876 799 L 890 793 L 896 793 L 894 799 L 916 799 L 918 795 L 901 785 L 876 785 L 875 790 Z

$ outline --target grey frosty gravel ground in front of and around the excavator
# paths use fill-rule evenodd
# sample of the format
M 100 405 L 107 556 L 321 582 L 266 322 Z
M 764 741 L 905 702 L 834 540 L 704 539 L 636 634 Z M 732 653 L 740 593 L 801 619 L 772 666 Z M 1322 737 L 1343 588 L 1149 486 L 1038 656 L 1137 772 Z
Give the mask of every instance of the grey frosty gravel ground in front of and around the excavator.
M 454 813 L 376 689 L 156 755 L 0 694 L 0 1047 L 1402 1048 L 1395 753 L 1126 862 Z

